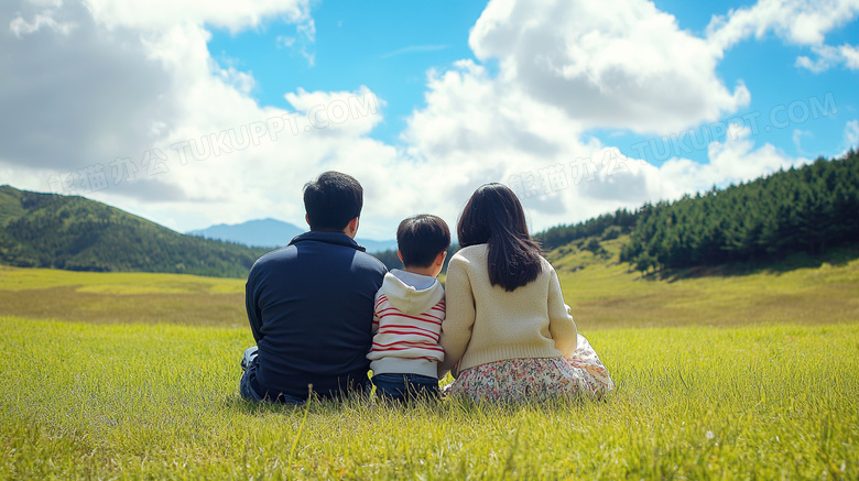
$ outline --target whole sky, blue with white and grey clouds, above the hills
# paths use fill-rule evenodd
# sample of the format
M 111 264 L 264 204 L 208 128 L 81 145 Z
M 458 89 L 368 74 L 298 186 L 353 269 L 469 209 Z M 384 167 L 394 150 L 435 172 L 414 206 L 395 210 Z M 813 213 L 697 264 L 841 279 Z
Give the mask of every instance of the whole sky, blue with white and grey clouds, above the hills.
M 0 184 L 186 231 L 302 225 L 302 186 L 333 168 L 365 185 L 361 237 L 390 239 L 501 182 L 539 231 L 859 144 L 858 17 L 859 0 L 15 0 Z

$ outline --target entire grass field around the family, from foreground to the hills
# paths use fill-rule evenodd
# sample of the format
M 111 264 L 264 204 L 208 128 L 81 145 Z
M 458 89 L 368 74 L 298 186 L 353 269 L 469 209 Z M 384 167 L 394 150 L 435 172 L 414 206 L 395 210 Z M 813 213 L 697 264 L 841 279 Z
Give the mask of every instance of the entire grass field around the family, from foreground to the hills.
M 0 479 L 859 478 L 859 261 L 671 282 L 552 255 L 605 402 L 252 405 L 243 281 L 0 267 Z

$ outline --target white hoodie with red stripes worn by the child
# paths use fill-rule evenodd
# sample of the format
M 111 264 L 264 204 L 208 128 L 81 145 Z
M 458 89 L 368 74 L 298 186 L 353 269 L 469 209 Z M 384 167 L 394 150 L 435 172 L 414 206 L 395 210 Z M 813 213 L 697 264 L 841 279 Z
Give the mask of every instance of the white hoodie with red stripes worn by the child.
M 394 269 L 376 293 L 373 346 L 367 354 L 374 374 L 437 375 L 445 319 L 445 289 L 437 278 Z

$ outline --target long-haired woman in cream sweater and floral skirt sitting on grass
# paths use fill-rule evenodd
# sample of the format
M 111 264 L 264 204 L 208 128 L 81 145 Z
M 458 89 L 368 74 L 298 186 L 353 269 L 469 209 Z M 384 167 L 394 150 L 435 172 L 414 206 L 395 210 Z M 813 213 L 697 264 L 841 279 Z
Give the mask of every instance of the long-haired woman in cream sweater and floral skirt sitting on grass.
M 552 265 L 531 239 L 515 194 L 478 188 L 457 226 L 447 267 L 444 362 L 452 394 L 475 401 L 601 396 L 615 389 L 564 304 Z

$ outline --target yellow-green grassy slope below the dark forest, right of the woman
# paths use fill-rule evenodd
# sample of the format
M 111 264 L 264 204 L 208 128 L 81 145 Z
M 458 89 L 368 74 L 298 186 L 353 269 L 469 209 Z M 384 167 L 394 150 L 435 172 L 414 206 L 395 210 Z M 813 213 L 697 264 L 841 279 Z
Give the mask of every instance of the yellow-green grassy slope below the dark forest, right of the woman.
M 744 275 L 657 280 L 617 262 L 624 240 L 604 241 L 605 254 L 576 243 L 547 253 L 580 329 L 859 320 L 856 252 L 834 251 L 829 262 L 789 258 Z

